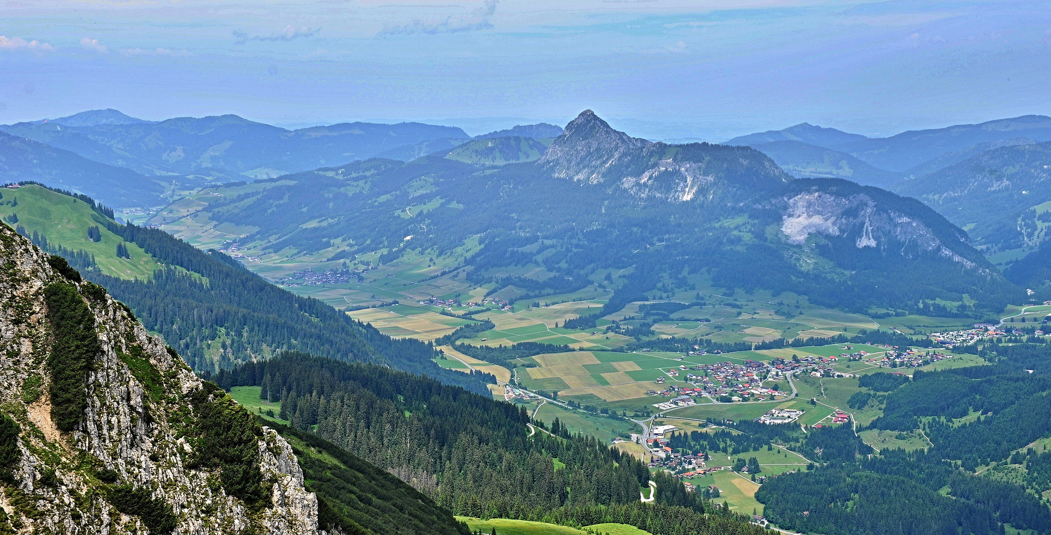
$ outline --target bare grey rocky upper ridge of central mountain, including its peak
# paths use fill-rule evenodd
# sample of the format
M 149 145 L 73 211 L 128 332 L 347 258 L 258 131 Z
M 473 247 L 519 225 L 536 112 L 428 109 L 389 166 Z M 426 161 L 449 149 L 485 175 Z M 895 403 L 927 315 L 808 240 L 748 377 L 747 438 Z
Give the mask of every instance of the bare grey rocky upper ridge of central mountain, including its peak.
M 787 175 L 748 147 L 651 143 L 614 130 L 592 110 L 565 126 L 538 165 L 558 178 L 610 185 L 641 199 L 685 202 L 783 186 Z

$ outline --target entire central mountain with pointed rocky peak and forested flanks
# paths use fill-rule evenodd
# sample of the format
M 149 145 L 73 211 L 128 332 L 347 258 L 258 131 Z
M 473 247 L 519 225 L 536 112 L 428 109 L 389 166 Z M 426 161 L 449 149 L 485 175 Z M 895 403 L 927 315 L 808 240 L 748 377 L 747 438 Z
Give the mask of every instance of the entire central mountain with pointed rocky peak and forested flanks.
M 939 299 L 984 317 L 1021 298 L 966 233 L 919 201 L 845 180 L 790 180 L 747 147 L 634 138 L 590 111 L 534 163 L 492 169 L 435 154 L 282 180 L 294 184 L 214 200 L 192 217 L 259 229 L 239 241 L 261 254 L 449 255 L 466 268 L 458 276 L 492 292 L 573 292 L 615 268 L 623 278 L 603 314 L 698 277 L 861 312 Z M 510 276 L 512 266 L 539 275 Z

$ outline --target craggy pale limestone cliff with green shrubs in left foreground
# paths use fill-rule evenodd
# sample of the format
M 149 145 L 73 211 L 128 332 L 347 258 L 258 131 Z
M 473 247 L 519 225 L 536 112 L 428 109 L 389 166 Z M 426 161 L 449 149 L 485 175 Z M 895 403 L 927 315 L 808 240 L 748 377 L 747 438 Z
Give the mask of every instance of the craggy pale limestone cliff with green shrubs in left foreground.
M 260 498 L 231 494 L 235 461 L 208 453 L 225 445 L 208 442 L 215 432 L 201 415 L 207 407 L 241 422 L 250 415 L 207 389 L 125 306 L 59 273 L 4 224 L 0 271 L 0 413 L 20 430 L 0 477 L 0 533 L 318 533 L 316 498 L 303 487 L 291 447 L 270 429 L 255 426 L 241 452 L 250 462 L 241 468 L 261 482 Z M 44 290 L 54 283 L 76 288 L 69 295 L 90 311 L 101 346 L 81 383 L 86 409 L 68 431 L 50 405 L 56 335 Z

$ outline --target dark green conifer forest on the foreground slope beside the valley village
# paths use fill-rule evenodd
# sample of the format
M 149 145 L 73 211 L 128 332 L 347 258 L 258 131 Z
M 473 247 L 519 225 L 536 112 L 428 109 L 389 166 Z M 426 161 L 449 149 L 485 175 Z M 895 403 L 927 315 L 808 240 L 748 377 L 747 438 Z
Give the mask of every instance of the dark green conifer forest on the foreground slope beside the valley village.
M 292 427 L 375 463 L 458 515 L 623 522 L 654 535 L 766 533 L 663 474 L 653 476 L 657 502 L 641 504 L 651 474 L 632 455 L 427 378 L 285 354 L 212 379 L 226 388 L 260 386 Z

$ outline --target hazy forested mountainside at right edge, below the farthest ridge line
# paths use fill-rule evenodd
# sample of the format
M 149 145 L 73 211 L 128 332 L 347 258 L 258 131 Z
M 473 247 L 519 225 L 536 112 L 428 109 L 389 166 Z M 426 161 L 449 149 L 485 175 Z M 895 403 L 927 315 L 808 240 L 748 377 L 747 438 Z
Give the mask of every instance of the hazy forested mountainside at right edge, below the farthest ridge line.
M 1051 214 L 1051 143 L 1000 147 L 892 189 L 963 227 L 988 251 L 1034 248 Z

